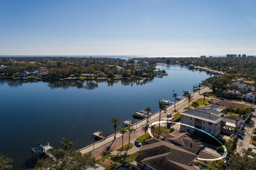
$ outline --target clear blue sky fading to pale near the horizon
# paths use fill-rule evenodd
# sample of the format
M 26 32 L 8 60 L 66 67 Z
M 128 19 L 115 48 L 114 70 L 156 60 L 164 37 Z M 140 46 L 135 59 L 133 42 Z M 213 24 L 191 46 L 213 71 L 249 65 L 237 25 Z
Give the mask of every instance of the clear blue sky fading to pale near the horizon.
M 0 55 L 256 55 L 255 0 L 0 0 Z

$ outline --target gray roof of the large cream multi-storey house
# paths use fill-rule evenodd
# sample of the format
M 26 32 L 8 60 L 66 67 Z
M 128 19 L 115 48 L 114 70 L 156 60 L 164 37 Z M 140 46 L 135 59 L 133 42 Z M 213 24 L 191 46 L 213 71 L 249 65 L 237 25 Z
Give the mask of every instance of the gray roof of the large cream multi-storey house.
M 203 108 L 189 109 L 183 113 L 198 117 L 198 119 L 204 118 L 206 120 L 210 120 L 213 122 L 217 122 L 221 118 L 220 115 L 222 115 L 222 113 L 218 111 L 214 111 L 213 109 L 203 109 Z

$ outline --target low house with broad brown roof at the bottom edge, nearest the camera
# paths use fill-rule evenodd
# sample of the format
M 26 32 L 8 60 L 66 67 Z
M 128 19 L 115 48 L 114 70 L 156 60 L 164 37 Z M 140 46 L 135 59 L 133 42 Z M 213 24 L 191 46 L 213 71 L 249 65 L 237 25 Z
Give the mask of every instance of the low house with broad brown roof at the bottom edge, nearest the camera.
M 195 170 L 194 160 L 197 155 L 171 145 L 162 140 L 154 139 L 138 151 L 135 163 L 140 169 L 146 170 Z

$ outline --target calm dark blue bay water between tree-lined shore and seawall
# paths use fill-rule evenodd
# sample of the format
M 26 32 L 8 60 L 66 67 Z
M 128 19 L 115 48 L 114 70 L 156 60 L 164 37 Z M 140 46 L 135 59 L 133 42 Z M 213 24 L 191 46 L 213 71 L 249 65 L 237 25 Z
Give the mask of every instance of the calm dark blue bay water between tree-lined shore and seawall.
M 59 147 L 70 137 L 74 148 L 92 143 L 92 133 L 114 132 L 110 120 L 133 120 L 131 114 L 147 106 L 158 111 L 158 99 L 171 99 L 193 89 L 211 75 L 186 66 L 157 66 L 169 74 L 145 81 L 24 82 L 0 80 L 0 153 L 14 160 L 13 169 L 29 167 L 30 148 L 50 142 Z

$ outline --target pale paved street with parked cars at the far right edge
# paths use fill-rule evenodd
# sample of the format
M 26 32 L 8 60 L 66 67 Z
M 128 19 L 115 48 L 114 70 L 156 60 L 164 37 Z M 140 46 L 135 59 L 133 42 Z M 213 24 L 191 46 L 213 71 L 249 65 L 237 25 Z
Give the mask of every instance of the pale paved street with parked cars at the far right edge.
M 250 144 L 251 136 L 253 129 L 256 128 L 256 114 L 255 112 L 252 115 L 251 121 L 245 125 L 245 136 L 244 139 L 239 139 L 237 141 L 236 151 L 241 154 L 243 149 L 247 150 Z

